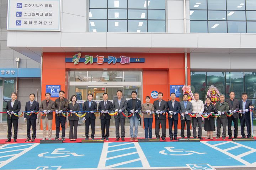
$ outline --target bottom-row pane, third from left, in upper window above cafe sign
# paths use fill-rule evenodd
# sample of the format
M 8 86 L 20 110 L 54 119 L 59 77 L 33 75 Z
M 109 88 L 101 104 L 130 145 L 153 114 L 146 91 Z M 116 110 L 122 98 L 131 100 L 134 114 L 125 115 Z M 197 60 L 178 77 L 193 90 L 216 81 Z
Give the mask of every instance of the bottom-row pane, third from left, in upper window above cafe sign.
M 147 32 L 147 22 L 143 20 L 128 20 L 128 32 Z

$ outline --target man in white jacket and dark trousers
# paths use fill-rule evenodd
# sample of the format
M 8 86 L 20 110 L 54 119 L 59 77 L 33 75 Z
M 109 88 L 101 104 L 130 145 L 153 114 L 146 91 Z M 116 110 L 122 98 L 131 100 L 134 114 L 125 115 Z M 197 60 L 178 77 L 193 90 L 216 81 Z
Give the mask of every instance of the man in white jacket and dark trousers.
M 197 137 L 196 126 L 198 124 L 198 138 L 203 140 L 202 138 L 202 123 L 203 118 L 201 114 L 204 112 L 204 104 L 202 100 L 199 100 L 199 93 L 194 93 L 194 100 L 191 101 L 193 105 L 192 113 L 197 113 L 195 118 L 192 118 L 192 125 L 193 125 L 193 137 Z

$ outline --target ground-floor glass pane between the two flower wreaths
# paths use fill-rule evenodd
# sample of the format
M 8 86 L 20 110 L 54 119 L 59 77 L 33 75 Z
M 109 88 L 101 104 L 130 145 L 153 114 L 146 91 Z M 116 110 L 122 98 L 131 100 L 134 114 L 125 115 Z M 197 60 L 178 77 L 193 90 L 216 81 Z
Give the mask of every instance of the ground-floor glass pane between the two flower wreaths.
M 191 72 L 191 85 L 194 86 L 195 91 L 199 93 L 199 97 L 204 101 L 206 95 L 206 72 Z

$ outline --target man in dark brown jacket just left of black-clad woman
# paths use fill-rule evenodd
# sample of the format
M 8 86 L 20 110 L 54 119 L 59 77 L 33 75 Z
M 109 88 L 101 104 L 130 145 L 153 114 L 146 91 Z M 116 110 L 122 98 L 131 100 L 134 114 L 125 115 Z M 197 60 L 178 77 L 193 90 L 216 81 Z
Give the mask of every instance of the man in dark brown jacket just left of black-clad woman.
M 55 140 L 59 140 L 60 125 L 62 127 L 62 141 L 65 141 L 65 131 L 66 131 L 66 118 L 63 116 L 62 112 L 66 112 L 68 109 L 68 99 L 64 97 L 65 91 L 59 91 L 59 98 L 55 100 L 55 124 L 56 124 L 56 137 Z

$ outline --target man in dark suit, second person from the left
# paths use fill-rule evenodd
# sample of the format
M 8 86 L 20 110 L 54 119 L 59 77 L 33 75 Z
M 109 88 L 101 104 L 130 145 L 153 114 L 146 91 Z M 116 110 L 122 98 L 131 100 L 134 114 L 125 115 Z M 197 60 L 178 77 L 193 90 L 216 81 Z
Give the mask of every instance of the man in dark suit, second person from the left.
M 25 112 L 31 113 L 31 115 L 24 114 L 24 121 L 27 122 L 27 140 L 25 142 L 34 142 L 36 138 L 36 119 L 37 115 L 34 112 L 38 112 L 39 110 L 39 103 L 34 101 L 35 94 L 30 94 L 30 101 L 26 103 Z M 32 126 L 32 140 L 30 137 L 30 127 Z

